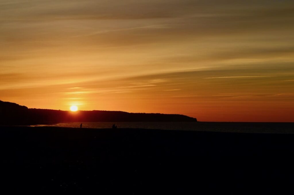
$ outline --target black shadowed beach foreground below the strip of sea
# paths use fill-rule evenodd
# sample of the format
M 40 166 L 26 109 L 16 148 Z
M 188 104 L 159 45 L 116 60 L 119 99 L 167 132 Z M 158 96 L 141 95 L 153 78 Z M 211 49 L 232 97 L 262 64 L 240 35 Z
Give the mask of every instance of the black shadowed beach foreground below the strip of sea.
M 293 194 L 294 134 L 0 129 L 1 192 Z

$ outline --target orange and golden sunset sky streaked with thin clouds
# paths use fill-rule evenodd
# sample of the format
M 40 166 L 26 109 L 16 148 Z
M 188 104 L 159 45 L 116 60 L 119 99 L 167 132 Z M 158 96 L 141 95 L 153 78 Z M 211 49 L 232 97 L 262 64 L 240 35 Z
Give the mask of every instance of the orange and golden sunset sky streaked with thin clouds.
M 0 0 L 0 100 L 294 122 L 294 1 Z

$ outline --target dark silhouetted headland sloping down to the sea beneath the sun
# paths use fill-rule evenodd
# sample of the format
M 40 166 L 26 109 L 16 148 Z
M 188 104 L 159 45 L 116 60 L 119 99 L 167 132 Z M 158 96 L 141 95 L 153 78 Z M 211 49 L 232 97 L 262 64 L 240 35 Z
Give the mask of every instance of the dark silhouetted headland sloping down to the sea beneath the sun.
M 128 113 L 123 111 L 61 111 L 27 108 L 0 100 L 0 124 L 25 125 L 60 122 L 196 122 L 181 114 Z

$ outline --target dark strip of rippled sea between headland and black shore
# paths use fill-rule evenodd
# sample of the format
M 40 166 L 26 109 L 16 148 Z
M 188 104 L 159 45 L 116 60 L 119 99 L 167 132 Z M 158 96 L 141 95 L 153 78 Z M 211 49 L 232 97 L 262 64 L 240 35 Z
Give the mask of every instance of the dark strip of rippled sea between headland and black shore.
M 161 130 L 188 130 L 188 131 L 217 131 L 217 132 L 241 132 L 241 133 L 294 133 L 294 123 L 262 123 L 262 122 L 72 122 L 46 125 L 50 127 L 70 128 L 117 128 L 135 129 L 161 129 Z

